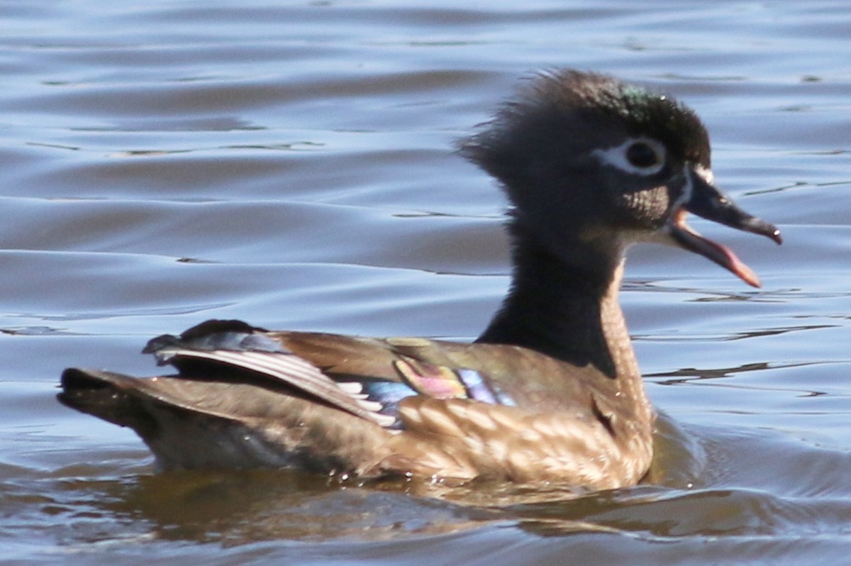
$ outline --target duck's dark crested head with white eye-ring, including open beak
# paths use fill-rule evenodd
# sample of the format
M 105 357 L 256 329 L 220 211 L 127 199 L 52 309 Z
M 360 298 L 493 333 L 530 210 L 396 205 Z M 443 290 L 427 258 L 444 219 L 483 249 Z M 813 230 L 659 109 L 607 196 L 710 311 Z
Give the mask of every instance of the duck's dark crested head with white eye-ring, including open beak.
M 611 272 L 631 243 L 653 241 L 758 286 L 732 251 L 685 223 L 688 212 L 781 241 L 714 185 L 709 136 L 693 111 L 612 77 L 535 77 L 461 151 L 505 186 L 516 237 L 591 271 Z

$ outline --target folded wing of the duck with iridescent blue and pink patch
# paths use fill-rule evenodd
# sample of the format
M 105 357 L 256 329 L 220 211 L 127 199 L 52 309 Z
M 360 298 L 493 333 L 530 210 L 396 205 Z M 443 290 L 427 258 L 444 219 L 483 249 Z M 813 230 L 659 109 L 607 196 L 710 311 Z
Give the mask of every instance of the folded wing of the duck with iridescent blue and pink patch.
M 406 397 L 514 404 L 491 376 L 505 373 L 494 352 L 489 357 L 470 352 L 477 349 L 482 348 L 420 338 L 268 332 L 241 321 L 210 320 L 180 336 L 159 336 L 144 352 L 186 378 L 284 387 L 398 429 L 398 403 Z

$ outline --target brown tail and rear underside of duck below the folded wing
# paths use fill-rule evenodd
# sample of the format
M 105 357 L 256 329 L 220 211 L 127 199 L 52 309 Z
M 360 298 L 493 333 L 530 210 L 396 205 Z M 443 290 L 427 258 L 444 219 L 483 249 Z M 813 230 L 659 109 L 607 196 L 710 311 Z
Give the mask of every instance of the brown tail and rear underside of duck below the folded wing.
M 148 445 L 160 469 L 289 467 L 361 473 L 385 458 L 391 432 L 275 389 L 176 376 L 66 369 L 60 403 Z

